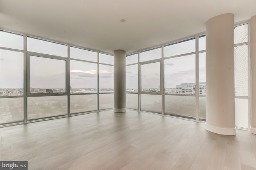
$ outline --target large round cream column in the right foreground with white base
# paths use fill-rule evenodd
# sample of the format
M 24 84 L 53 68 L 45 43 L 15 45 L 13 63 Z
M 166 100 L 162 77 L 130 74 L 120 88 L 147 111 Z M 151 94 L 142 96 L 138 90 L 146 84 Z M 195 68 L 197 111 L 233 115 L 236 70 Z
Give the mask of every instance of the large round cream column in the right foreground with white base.
M 206 129 L 235 135 L 234 14 L 206 22 Z

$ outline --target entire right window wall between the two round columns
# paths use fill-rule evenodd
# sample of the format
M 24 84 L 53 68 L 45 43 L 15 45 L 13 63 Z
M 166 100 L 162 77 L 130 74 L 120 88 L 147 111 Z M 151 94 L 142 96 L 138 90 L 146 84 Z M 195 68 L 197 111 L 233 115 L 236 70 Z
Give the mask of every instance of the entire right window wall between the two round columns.
M 204 34 L 138 51 L 138 54 L 126 56 L 127 108 L 137 109 L 134 99 L 138 97 L 139 111 L 206 120 Z M 138 83 L 138 95 L 135 83 Z

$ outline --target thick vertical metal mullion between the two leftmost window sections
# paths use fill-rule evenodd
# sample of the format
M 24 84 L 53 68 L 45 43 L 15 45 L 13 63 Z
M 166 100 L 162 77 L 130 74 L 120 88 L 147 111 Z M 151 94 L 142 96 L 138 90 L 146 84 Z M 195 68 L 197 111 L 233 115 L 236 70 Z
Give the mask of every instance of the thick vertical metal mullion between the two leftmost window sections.
M 28 99 L 27 99 L 27 90 L 28 90 L 28 61 L 27 61 L 27 35 L 24 35 L 23 36 L 23 48 L 24 48 L 24 51 L 23 51 L 23 69 L 24 69 L 24 74 L 23 74 L 23 117 L 24 117 L 24 123 L 27 123 L 28 122 Z

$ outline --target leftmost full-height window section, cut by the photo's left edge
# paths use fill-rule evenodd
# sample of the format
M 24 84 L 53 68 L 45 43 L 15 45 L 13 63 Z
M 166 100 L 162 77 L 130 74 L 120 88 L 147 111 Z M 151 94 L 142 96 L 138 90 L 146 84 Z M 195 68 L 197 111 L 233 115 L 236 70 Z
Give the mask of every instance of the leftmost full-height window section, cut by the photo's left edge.
M 0 47 L 0 123 L 23 122 L 23 35 L 0 31 Z

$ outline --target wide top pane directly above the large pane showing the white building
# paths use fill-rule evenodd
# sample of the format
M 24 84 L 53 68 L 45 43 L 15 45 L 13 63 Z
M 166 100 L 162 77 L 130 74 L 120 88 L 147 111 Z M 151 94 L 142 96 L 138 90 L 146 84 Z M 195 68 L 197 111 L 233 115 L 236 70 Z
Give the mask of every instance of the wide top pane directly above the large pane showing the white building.
M 164 46 L 164 57 L 192 53 L 196 51 L 196 39 L 185 40 Z

